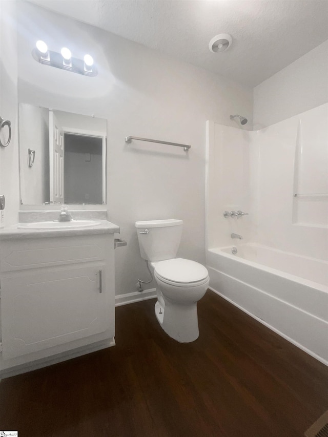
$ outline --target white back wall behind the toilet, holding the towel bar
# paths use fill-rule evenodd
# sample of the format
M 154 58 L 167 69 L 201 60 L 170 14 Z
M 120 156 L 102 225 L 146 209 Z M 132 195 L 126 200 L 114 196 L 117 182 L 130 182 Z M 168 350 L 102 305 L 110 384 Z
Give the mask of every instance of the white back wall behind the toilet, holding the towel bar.
M 128 242 L 115 252 L 116 294 L 134 292 L 137 279 L 148 277 L 136 220 L 182 219 L 178 255 L 204 262 L 206 120 L 236 126 L 229 115 L 241 113 L 251 129 L 253 91 L 31 4 L 19 5 L 18 28 L 19 99 L 108 120 L 108 218 Z M 89 52 L 98 76 L 38 64 L 31 56 L 37 39 L 55 51 L 68 46 L 76 57 Z M 128 135 L 192 148 L 186 153 L 154 143 L 127 145 Z

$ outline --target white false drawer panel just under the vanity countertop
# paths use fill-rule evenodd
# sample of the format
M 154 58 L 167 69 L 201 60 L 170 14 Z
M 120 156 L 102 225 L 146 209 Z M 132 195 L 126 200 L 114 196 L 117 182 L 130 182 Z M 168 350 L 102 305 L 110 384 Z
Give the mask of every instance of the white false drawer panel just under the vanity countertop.
M 3 241 L 0 248 L 1 271 L 103 260 L 106 252 L 112 246 L 114 248 L 113 235 Z

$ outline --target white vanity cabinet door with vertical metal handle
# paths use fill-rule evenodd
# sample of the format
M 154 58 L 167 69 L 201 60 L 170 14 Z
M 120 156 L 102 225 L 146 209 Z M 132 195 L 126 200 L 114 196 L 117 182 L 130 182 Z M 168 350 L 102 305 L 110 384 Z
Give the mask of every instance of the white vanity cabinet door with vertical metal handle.
M 99 263 L 70 269 L 52 268 L 47 272 L 25 270 L 3 277 L 3 359 L 108 329 L 105 273 L 105 264 Z

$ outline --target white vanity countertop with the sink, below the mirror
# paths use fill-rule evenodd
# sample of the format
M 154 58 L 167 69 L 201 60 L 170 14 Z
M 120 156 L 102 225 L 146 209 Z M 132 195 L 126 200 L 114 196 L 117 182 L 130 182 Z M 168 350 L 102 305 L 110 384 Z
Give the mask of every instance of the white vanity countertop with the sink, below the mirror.
M 76 229 L 18 229 L 19 223 L 0 229 L 0 240 L 45 237 L 74 237 L 78 235 L 114 234 L 119 233 L 119 226 L 107 220 L 99 220 L 100 224 L 87 228 Z

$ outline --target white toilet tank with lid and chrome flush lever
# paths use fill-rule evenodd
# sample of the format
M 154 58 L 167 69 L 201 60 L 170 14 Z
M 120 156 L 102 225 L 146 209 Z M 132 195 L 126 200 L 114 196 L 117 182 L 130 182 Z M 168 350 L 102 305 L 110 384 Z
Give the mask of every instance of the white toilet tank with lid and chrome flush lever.
M 181 234 L 182 220 L 136 221 L 140 255 L 148 261 L 162 261 L 176 257 Z M 142 233 L 148 230 L 148 233 Z

